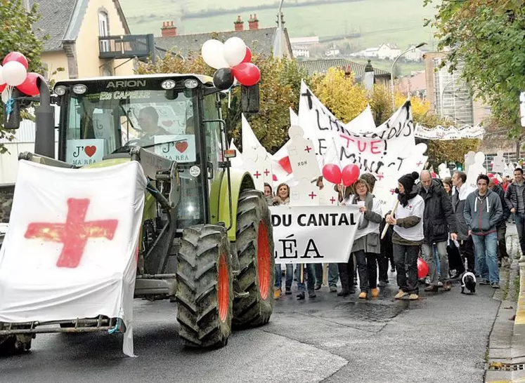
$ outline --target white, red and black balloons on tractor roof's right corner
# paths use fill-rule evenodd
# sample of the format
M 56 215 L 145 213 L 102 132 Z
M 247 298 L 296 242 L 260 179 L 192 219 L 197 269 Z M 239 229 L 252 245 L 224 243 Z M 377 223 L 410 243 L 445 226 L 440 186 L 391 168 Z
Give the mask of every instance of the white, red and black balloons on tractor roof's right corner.
M 213 83 L 217 89 L 228 90 L 235 80 L 244 86 L 254 86 L 261 79 L 261 71 L 252 64 L 252 51 L 238 37 L 231 37 L 222 43 L 208 40 L 202 44 L 202 59 L 217 69 Z

